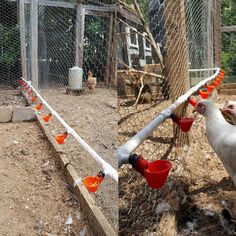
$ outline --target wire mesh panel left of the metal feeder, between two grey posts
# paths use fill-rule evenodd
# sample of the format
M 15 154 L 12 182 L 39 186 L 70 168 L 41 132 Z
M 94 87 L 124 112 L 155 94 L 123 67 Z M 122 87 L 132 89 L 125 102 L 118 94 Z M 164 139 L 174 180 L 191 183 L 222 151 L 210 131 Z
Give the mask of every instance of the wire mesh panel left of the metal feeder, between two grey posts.
M 76 9 L 38 4 L 39 88 L 65 88 L 75 65 Z

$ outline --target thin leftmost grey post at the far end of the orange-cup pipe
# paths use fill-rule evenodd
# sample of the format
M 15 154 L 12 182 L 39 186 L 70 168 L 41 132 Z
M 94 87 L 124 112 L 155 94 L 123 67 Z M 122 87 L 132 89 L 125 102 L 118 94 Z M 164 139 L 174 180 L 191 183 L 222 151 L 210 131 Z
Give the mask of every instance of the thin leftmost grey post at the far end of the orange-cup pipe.
M 21 42 L 21 69 L 22 77 L 28 80 L 26 64 L 26 46 L 25 46 L 25 3 L 20 0 L 20 42 Z

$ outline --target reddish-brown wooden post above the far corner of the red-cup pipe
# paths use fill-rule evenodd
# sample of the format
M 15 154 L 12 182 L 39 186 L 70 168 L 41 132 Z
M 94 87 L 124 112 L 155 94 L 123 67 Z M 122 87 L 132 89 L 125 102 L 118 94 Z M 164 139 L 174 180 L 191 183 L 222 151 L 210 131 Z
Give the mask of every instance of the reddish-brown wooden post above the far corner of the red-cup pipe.
M 221 0 L 214 3 L 214 56 L 215 65 L 221 68 Z

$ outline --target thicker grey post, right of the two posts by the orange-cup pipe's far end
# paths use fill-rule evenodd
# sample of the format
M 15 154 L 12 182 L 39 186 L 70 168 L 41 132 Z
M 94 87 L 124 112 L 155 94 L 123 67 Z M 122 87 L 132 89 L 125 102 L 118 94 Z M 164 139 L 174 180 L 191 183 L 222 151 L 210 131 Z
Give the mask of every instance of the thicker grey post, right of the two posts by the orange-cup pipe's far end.
M 32 85 L 38 89 L 38 0 L 31 0 L 30 32 Z

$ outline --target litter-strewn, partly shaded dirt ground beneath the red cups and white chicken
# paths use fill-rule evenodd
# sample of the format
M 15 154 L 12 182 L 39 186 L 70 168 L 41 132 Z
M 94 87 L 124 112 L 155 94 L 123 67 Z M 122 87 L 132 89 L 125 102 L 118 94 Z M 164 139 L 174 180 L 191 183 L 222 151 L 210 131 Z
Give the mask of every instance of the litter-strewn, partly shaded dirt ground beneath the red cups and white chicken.
M 220 96 L 216 104 L 236 96 Z M 133 136 L 152 120 L 168 102 L 139 104 L 135 110 L 122 101 L 120 106 L 119 143 Z M 146 181 L 129 166 L 119 171 L 119 232 L 120 235 L 155 235 L 162 230 L 159 223 L 163 212 L 177 212 L 177 235 L 227 235 L 219 213 L 225 207 L 236 217 L 236 189 L 219 158 L 208 144 L 205 120 L 197 115 L 189 133 L 189 145 L 171 145 L 172 122 L 167 120 L 136 151 L 148 160 L 172 162 L 172 171 L 163 188 L 152 190 Z M 169 137 L 169 138 L 168 138 Z M 174 197 L 175 196 L 175 197 Z M 180 208 L 176 202 L 180 196 Z M 161 210 L 160 210 L 161 209 Z M 165 234 L 163 234 L 165 235 Z

